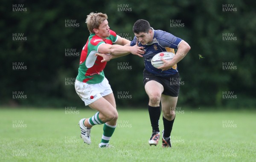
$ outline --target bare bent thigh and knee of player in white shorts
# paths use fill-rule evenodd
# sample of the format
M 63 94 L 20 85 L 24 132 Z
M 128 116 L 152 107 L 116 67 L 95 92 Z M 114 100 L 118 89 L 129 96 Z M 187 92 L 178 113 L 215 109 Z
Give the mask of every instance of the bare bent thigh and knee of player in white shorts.
M 89 107 L 99 111 L 100 112 L 99 117 L 101 116 L 115 117 L 117 115 L 116 107 L 113 107 L 113 105 L 104 97 L 101 97 L 96 101 L 94 101 L 93 103 L 89 104 Z

